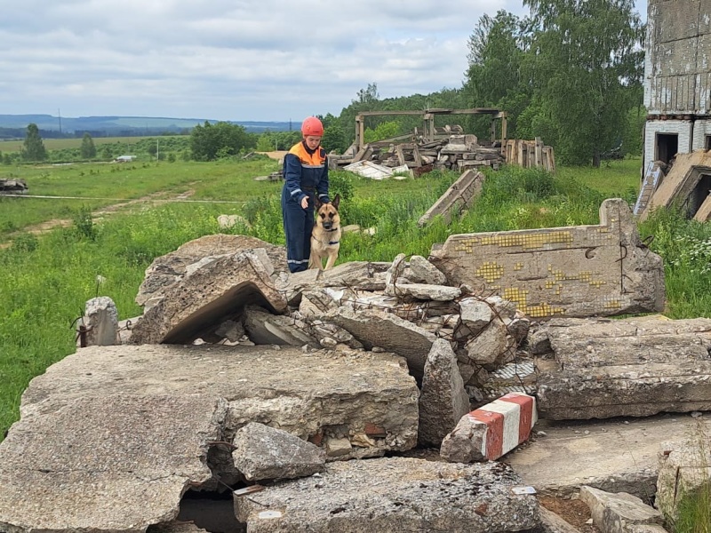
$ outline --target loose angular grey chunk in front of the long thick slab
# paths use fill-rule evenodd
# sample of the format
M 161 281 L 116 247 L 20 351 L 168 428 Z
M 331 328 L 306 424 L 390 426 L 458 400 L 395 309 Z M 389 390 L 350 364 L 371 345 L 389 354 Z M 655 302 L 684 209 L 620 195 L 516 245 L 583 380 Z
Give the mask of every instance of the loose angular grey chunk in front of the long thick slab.
M 247 481 L 293 479 L 324 472 L 323 449 L 281 429 L 251 422 L 232 441 L 232 458 Z

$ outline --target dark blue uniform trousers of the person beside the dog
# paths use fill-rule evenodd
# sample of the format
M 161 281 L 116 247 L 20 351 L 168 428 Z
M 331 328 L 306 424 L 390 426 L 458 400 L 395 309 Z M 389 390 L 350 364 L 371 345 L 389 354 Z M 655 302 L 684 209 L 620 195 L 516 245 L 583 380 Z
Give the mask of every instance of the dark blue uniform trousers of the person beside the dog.
M 286 235 L 286 262 L 290 272 L 308 269 L 308 257 L 311 255 L 311 230 L 314 228 L 314 193 L 308 194 L 308 208 L 302 209 L 300 203 L 289 195 L 284 185 L 282 189 L 282 218 Z

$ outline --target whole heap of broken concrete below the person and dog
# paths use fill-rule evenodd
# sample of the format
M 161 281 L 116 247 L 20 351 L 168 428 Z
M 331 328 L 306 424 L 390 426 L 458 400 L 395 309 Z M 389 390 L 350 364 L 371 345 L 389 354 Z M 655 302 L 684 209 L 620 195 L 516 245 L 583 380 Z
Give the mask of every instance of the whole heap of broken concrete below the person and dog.
M 251 532 L 548 527 L 521 455 L 538 442 L 520 446 L 542 438 L 538 418 L 711 410 L 711 321 L 571 317 L 583 298 L 599 314 L 663 303 L 628 213 L 607 201 L 601 216 L 298 274 L 252 237 L 184 244 L 148 267 L 142 316 L 122 327 L 109 298 L 90 300 L 89 346 L 28 386 L 0 444 L 0 531 L 177 530 L 186 491 L 227 486 Z M 514 466 L 494 461 L 509 453 Z M 585 481 L 591 507 L 611 505 Z

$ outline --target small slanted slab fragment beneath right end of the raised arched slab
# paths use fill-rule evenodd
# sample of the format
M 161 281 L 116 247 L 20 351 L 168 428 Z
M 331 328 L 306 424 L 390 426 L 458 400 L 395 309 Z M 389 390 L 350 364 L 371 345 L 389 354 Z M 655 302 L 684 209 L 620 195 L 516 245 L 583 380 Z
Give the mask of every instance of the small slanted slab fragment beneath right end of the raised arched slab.
M 318 346 L 308 333 L 308 324 L 291 316 L 271 314 L 259 306 L 244 308 L 244 329 L 258 345 Z

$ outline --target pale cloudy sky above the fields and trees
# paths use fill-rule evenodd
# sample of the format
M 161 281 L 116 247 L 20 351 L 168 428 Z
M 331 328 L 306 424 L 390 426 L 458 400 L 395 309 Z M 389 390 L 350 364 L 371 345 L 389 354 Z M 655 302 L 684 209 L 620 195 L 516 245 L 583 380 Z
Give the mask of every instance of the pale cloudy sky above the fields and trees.
M 646 19 L 646 0 L 636 2 Z M 0 114 L 300 121 L 459 88 L 507 0 L 0 0 Z

